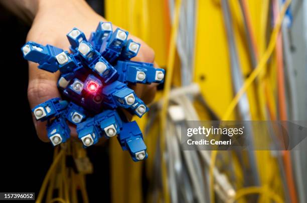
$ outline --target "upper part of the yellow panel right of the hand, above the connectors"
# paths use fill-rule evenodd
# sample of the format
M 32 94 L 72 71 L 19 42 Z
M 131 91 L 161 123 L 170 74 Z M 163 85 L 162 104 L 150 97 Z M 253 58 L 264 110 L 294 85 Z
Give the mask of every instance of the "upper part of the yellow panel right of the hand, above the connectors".
M 144 40 L 166 66 L 167 31 L 164 0 L 105 0 L 106 19 Z M 159 11 L 159 12 L 157 12 Z

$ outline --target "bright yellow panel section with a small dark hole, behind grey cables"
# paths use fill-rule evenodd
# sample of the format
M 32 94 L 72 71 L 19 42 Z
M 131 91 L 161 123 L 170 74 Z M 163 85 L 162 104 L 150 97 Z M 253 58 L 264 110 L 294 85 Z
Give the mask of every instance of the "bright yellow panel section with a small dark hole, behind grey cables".
M 194 78 L 200 84 L 208 105 L 219 117 L 233 97 L 229 64 L 220 5 L 213 0 L 200 0 Z

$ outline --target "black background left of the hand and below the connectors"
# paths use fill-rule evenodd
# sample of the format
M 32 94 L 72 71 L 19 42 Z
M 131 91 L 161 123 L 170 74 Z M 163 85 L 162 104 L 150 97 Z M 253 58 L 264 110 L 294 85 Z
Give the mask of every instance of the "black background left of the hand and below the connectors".
M 103 0 L 88 0 L 103 15 Z M 97 22 L 98 23 L 98 22 Z M 52 162 L 53 147 L 36 135 L 27 99 L 28 62 L 21 47 L 31 27 L 0 5 L 1 47 L 1 163 L 0 192 L 35 192 L 38 195 Z M 63 36 L 65 37 L 65 36 Z M 87 176 L 93 199 L 110 201 L 108 146 L 88 149 L 94 173 Z

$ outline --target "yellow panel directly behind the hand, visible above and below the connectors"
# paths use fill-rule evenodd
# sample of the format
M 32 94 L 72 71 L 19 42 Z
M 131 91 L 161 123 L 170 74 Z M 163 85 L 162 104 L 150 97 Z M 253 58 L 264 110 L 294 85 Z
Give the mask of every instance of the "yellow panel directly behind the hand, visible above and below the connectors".
M 166 10 L 164 0 L 105 0 L 105 8 L 107 20 L 144 40 L 155 50 L 158 64 L 166 65 L 167 21 L 166 14 L 161 12 Z M 146 117 L 134 119 L 144 131 Z M 149 154 L 146 163 L 149 166 L 152 166 L 156 141 L 157 136 L 145 138 Z M 110 151 L 112 202 L 141 202 L 143 163 L 133 162 L 127 151 L 122 152 L 116 139 L 110 140 Z

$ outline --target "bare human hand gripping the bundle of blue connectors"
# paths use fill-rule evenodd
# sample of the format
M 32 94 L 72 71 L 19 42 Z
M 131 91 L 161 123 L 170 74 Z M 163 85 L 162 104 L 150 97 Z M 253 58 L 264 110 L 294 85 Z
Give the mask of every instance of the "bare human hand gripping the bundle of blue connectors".
M 28 33 L 27 41 L 36 41 L 43 45 L 52 44 L 64 50 L 69 49 L 66 34 L 78 27 L 87 37 L 96 29 L 99 21 L 107 21 L 95 13 L 84 0 L 38 0 L 38 9 L 32 27 Z M 116 25 L 113 25 L 116 29 Z M 154 62 L 154 51 L 143 41 L 129 35 L 134 41 L 141 43 L 138 55 L 132 60 Z M 57 88 L 59 71 L 50 73 L 38 69 L 38 64 L 29 62 L 28 99 L 31 108 L 53 97 L 59 97 Z M 135 93 L 149 103 L 155 96 L 157 84 L 137 84 L 133 86 Z M 34 124 L 37 134 L 43 141 L 49 141 L 46 131 L 46 121 L 36 121 Z M 77 136 L 76 129 L 71 125 L 71 135 Z

